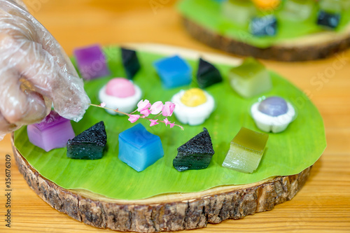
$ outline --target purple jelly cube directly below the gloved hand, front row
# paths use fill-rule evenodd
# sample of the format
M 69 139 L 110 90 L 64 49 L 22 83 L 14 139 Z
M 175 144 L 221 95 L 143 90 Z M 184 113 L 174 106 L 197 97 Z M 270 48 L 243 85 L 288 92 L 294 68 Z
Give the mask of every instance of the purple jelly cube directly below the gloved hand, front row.
M 28 125 L 27 134 L 31 143 L 45 151 L 66 147 L 67 141 L 76 136 L 71 121 L 55 111 L 51 111 L 40 123 Z

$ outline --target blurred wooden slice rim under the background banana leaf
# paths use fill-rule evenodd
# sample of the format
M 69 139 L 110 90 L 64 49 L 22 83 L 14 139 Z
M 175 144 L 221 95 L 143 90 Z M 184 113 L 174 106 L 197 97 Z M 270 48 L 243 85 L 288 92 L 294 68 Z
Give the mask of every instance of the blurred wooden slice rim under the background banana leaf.
M 273 59 L 283 62 L 323 59 L 350 47 L 350 26 L 342 32 L 324 31 L 285 41 L 269 48 L 257 48 L 253 45 L 221 36 L 186 17 L 183 17 L 183 24 L 191 36 L 211 47 L 235 55 Z

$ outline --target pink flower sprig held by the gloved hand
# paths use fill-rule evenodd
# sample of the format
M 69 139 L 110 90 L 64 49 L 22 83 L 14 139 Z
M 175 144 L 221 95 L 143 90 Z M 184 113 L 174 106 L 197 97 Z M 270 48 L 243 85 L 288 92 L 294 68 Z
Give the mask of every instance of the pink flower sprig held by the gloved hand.
M 105 103 L 101 103 L 99 105 L 97 104 L 90 104 L 90 106 L 98 107 L 98 108 L 104 108 L 107 110 L 115 111 L 116 113 L 120 113 L 123 115 L 127 115 L 129 117 L 129 121 L 134 123 L 137 122 L 140 118 L 147 119 L 151 122 L 150 126 L 159 125 L 159 123 L 164 123 L 165 126 L 170 126 L 170 128 L 177 126 L 180 127 L 183 130 L 183 127 L 181 125 L 176 125 L 175 122 L 170 122 L 167 117 L 172 116 L 175 108 L 175 104 L 172 102 L 165 102 L 165 104 L 162 103 L 162 101 L 157 101 L 154 104 L 150 104 L 150 101 L 148 99 L 141 100 L 137 104 L 137 110 L 133 111 L 132 113 L 123 113 L 119 111 L 119 109 L 112 109 L 107 108 Z M 135 114 L 139 112 L 139 114 Z M 153 118 L 148 118 L 149 115 L 155 115 Z M 164 120 L 156 119 L 158 116 L 163 115 L 165 116 Z

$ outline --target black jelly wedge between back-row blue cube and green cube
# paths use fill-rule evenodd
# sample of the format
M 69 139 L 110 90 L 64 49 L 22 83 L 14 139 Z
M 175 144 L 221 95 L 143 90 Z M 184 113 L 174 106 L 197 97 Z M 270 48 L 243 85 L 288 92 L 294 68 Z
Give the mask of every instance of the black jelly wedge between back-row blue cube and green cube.
M 197 83 L 200 88 L 206 88 L 216 83 L 221 83 L 223 77 L 216 67 L 200 58 L 200 65 L 197 71 Z

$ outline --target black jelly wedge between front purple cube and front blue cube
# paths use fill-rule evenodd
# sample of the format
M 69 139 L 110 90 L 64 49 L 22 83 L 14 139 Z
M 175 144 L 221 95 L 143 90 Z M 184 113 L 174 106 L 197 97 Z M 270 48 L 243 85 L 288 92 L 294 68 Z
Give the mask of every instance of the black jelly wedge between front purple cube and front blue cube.
M 104 155 L 106 142 L 106 129 L 102 121 L 69 140 L 66 156 L 79 160 L 99 160 Z

